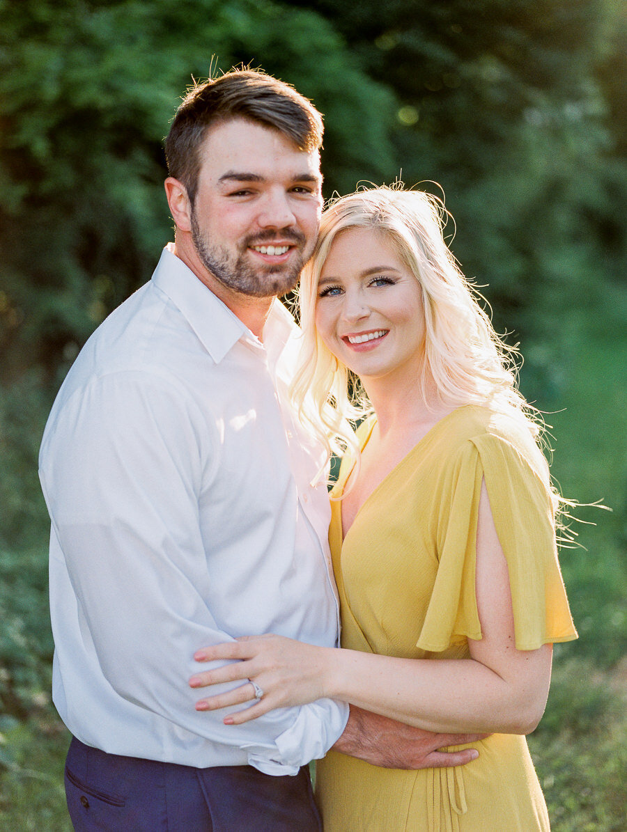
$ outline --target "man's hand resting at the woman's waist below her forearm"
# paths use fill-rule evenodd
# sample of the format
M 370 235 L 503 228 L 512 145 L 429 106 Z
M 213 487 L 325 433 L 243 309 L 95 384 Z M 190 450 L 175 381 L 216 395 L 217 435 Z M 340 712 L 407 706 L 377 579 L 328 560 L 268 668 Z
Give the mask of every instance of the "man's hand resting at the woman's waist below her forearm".
M 435 769 L 465 765 L 476 760 L 474 748 L 440 751 L 447 745 L 465 745 L 483 740 L 488 734 L 433 734 L 406 726 L 351 705 L 344 733 L 333 750 L 386 769 Z

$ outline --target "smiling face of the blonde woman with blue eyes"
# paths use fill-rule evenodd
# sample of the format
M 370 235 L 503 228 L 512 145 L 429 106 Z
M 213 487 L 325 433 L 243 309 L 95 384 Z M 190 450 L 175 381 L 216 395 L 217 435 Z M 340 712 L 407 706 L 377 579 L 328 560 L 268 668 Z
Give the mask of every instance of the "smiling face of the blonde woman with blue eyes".
M 361 379 L 416 379 L 425 336 L 420 285 L 385 232 L 349 228 L 333 240 L 317 289 L 316 328 Z

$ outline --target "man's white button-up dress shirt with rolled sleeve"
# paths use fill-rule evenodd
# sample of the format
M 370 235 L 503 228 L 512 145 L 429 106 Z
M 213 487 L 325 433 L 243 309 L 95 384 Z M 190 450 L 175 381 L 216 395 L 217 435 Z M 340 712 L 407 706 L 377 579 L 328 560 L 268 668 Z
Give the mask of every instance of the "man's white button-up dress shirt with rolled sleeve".
M 225 726 L 187 686 L 193 653 L 236 636 L 336 646 L 320 449 L 285 395 L 295 335 L 275 301 L 261 344 L 166 249 L 62 384 L 40 453 L 52 694 L 87 745 L 285 775 L 344 730 L 328 699 Z

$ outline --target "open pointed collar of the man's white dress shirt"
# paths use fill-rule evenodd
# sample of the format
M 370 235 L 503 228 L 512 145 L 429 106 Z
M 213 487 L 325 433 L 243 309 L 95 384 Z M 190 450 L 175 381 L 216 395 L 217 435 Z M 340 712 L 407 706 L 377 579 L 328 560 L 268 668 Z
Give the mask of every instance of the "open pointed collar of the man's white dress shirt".
M 294 319 L 281 301 L 275 300 L 272 304 L 261 345 L 246 324 L 174 254 L 170 245 L 162 251 L 152 282 L 187 319 L 211 359 L 219 364 L 236 342 L 244 338 L 263 346 L 273 364 L 296 329 Z

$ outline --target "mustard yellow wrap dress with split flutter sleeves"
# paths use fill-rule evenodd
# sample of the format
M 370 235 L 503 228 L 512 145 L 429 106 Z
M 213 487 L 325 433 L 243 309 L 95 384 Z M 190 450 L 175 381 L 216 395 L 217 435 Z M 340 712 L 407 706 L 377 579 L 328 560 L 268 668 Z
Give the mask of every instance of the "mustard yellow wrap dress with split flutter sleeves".
M 362 447 L 374 421 L 361 426 Z M 351 465 L 345 459 L 334 496 Z M 524 426 L 466 405 L 441 419 L 362 505 L 331 553 L 341 644 L 404 658 L 467 658 L 480 639 L 475 540 L 481 480 L 510 572 L 515 641 L 577 637 L 557 561 L 545 459 Z M 325 832 L 533 832 L 549 818 L 524 736 L 473 743 L 455 769 L 391 770 L 331 751 L 316 765 Z M 463 747 L 463 746 L 461 746 Z

